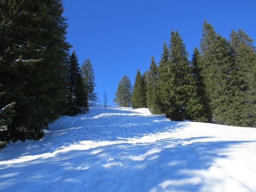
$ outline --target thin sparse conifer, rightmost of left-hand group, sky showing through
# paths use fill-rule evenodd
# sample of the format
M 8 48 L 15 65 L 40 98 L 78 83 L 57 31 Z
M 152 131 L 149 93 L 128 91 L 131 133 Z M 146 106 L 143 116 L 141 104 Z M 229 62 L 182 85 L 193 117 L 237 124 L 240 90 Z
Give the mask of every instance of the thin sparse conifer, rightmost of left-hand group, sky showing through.
M 89 58 L 84 60 L 81 66 L 81 70 L 86 90 L 88 92 L 88 102 L 91 106 L 93 102 L 96 102 L 98 100 L 98 97 L 97 93 L 94 92 L 94 87 L 96 86 L 96 83 L 94 82 L 94 70 L 92 68 L 92 64 Z

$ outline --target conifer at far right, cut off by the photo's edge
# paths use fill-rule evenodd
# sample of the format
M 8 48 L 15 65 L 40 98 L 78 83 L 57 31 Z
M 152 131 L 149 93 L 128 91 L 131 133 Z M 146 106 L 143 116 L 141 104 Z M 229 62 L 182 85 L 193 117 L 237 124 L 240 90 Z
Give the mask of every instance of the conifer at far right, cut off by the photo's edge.
M 253 40 L 242 30 L 232 30 L 230 42 L 235 60 L 235 70 L 238 75 L 234 83 L 238 82 L 236 99 L 238 116 L 233 124 L 237 126 L 256 126 L 256 50 Z

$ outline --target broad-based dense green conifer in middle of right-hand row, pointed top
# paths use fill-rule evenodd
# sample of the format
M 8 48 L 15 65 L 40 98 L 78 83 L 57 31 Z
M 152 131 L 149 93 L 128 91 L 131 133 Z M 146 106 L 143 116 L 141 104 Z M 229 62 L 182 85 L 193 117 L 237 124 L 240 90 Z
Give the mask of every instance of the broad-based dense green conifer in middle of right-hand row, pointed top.
M 160 60 L 160 95 L 162 110 L 171 120 L 196 120 L 202 105 L 196 95 L 185 45 L 178 32 L 171 32 L 169 56 L 166 46 Z

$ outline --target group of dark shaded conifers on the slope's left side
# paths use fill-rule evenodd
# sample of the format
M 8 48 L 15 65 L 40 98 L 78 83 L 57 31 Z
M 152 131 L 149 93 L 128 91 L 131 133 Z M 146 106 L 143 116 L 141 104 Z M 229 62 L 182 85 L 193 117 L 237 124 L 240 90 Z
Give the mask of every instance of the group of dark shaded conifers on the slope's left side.
M 0 1 L 0 142 L 38 140 L 96 100 L 92 65 L 70 56 L 62 12 L 61 0 Z

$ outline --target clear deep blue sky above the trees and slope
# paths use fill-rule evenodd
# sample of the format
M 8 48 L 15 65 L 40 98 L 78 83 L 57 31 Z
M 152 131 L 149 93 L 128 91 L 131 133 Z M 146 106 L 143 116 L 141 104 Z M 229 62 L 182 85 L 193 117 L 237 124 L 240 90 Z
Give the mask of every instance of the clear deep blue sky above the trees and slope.
M 191 55 L 199 45 L 203 20 L 228 38 L 241 28 L 256 39 L 255 0 L 63 0 L 68 17 L 67 40 L 80 64 L 87 57 L 94 67 L 96 92 L 102 102 L 106 89 L 113 105 L 118 81 L 132 83 L 137 68 L 143 73 L 150 57 L 160 59 L 163 41 L 178 30 Z M 254 42 L 255 45 L 255 42 Z

